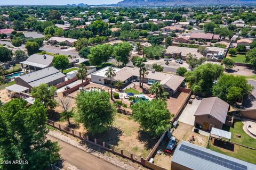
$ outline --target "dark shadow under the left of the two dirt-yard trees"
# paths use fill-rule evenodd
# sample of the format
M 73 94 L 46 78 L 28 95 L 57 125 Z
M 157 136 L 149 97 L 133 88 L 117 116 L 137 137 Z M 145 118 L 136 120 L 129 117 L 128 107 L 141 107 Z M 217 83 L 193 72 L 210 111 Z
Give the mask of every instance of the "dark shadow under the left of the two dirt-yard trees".
M 88 135 L 89 140 L 94 142 L 94 139 L 97 139 L 97 143 L 102 145 L 102 142 L 108 143 L 110 145 L 117 146 L 120 141 L 120 137 L 122 135 L 122 130 L 116 127 L 110 127 L 108 130 L 99 133 L 99 134 L 91 134 L 86 133 L 85 136 Z

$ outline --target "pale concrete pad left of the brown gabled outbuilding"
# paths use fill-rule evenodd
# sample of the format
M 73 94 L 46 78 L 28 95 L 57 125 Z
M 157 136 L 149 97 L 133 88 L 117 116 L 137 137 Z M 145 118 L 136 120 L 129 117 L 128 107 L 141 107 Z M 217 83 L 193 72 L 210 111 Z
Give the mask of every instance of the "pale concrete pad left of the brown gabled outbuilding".
M 180 114 L 178 121 L 194 126 L 194 122 L 195 122 L 194 114 L 202 100 L 197 100 L 197 99 L 192 99 L 192 100 L 193 100 L 193 103 L 187 104 L 187 106 L 183 109 L 183 112 Z

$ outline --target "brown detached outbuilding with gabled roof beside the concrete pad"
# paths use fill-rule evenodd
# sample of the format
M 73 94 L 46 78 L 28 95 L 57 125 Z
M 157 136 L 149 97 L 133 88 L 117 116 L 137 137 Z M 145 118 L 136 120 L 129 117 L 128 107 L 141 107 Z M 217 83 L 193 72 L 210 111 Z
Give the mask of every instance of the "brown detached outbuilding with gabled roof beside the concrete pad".
M 222 129 L 228 110 L 229 104 L 218 97 L 203 98 L 194 114 L 194 125 L 202 126 L 206 131 L 212 128 Z

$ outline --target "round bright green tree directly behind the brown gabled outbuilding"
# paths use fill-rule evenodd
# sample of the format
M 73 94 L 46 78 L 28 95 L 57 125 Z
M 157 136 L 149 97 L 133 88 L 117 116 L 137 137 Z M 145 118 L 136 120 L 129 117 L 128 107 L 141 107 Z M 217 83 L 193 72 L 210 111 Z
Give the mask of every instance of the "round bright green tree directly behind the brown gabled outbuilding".
M 251 84 L 242 76 L 223 74 L 213 86 L 213 95 L 233 105 L 238 99 L 248 96 L 253 90 Z

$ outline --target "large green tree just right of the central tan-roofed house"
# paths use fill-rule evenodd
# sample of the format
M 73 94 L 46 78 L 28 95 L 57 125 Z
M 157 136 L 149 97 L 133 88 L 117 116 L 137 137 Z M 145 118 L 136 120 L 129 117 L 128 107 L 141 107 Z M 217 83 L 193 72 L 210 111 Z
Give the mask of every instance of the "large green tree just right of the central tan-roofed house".
M 213 82 L 218 80 L 223 70 L 221 65 L 206 63 L 198 66 L 194 71 L 186 72 L 185 77 L 190 89 L 195 93 L 211 95 Z

